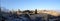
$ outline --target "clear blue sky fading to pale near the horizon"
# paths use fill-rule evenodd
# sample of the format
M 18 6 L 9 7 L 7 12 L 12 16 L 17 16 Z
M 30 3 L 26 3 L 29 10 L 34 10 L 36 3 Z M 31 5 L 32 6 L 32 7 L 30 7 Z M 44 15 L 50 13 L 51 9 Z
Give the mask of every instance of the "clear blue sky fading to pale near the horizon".
M 60 10 L 60 0 L 1 0 L 0 4 L 9 10 Z

